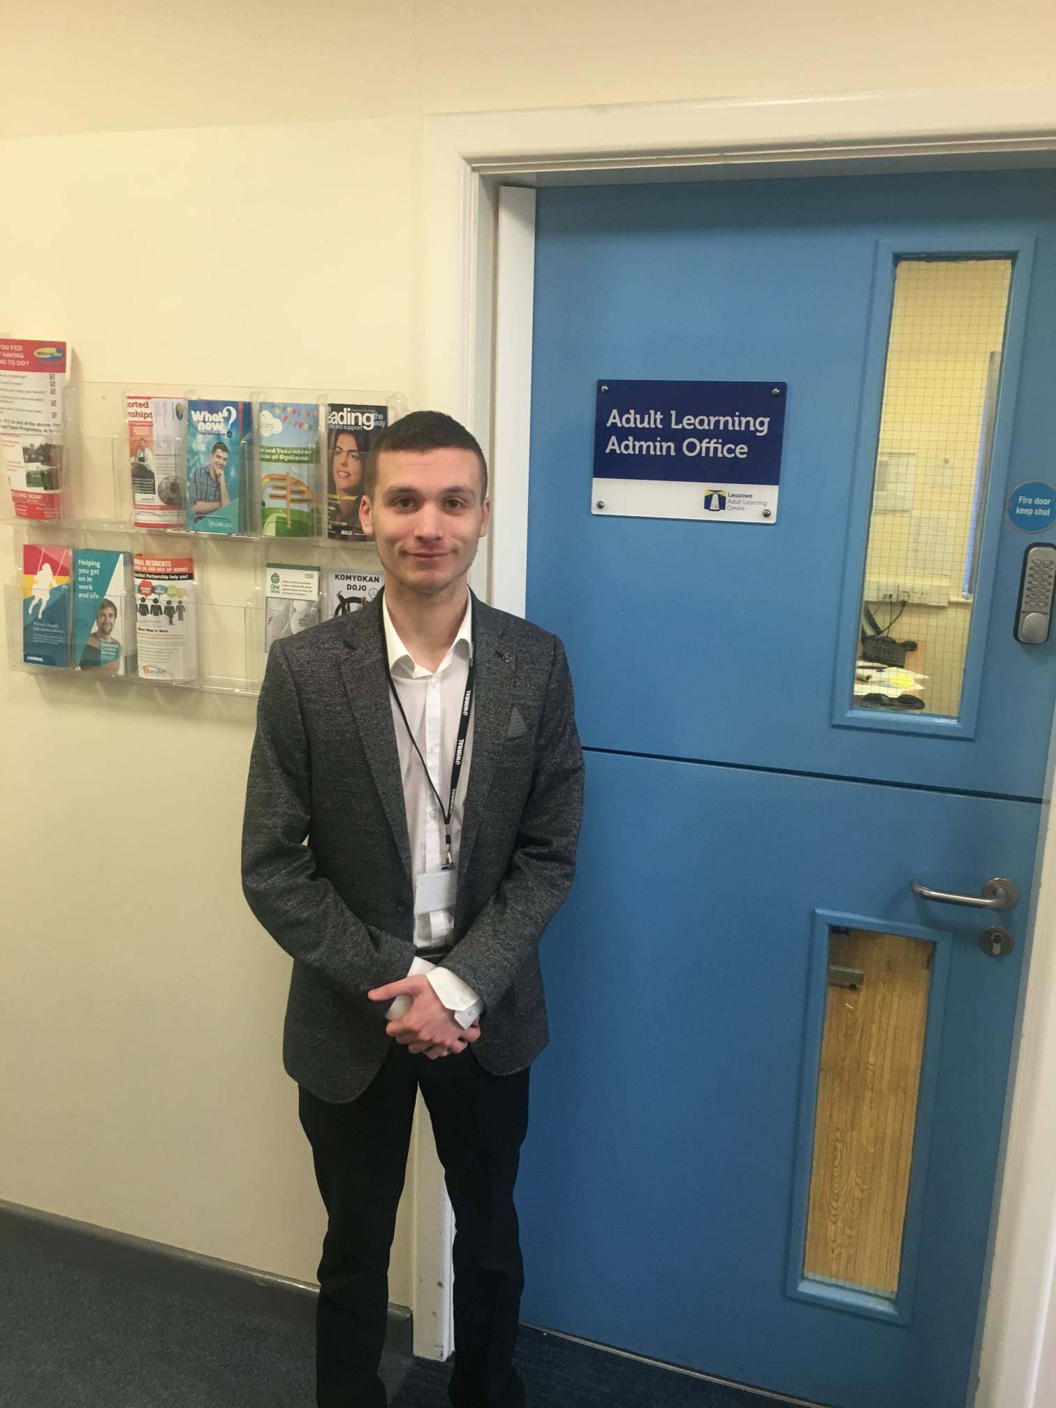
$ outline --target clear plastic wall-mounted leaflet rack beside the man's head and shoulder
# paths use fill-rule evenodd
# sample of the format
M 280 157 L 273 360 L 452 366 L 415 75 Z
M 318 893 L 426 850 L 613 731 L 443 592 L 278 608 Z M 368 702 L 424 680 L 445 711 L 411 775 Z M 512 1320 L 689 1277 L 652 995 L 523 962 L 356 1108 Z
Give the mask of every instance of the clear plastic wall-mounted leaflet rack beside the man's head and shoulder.
M 175 456 L 177 473 L 186 473 L 186 442 L 173 436 L 163 446 L 161 456 L 151 452 L 139 455 L 130 441 L 127 420 L 130 398 L 162 397 L 182 403 L 213 400 L 232 404 L 249 403 L 251 425 L 242 435 L 228 439 L 228 458 L 238 444 L 238 456 L 244 465 L 246 484 L 246 513 L 242 527 L 235 532 L 214 532 L 201 527 L 187 527 L 186 510 L 180 505 L 179 515 L 169 514 L 170 525 L 144 521 L 144 496 L 137 504 L 134 498 L 134 476 L 141 486 L 146 470 L 153 474 L 155 486 L 170 469 Z M 315 451 L 301 456 L 294 474 L 290 467 L 272 467 L 282 463 L 276 456 L 262 453 L 265 435 L 260 434 L 262 415 L 272 415 L 282 404 L 286 414 L 296 414 L 297 407 L 315 410 Z M 15 572 L 4 587 L 4 615 L 7 624 L 8 665 L 14 670 L 45 677 L 76 676 L 79 681 L 93 679 L 97 689 L 107 686 L 148 686 L 152 689 L 191 689 L 213 693 L 255 696 L 259 693 L 266 663 L 269 635 L 275 635 L 273 612 L 268 611 L 266 577 L 276 576 L 276 569 L 310 569 L 308 580 L 317 583 L 315 612 L 318 620 L 329 614 L 332 573 L 355 573 L 363 579 L 379 573 L 380 565 L 370 539 L 331 538 L 327 525 L 327 489 L 334 486 L 331 459 L 334 442 L 341 436 L 338 449 L 352 449 L 356 458 L 362 438 L 349 435 L 346 429 L 331 427 L 325 434 L 327 408 L 344 410 L 348 418 L 356 408 L 384 408 L 386 424 L 398 420 L 407 411 L 406 398 L 398 393 L 377 391 L 253 391 L 237 387 L 177 389 L 173 386 L 120 386 L 115 383 L 83 383 L 76 394 L 68 387 L 66 406 L 69 414 L 63 425 L 63 484 L 62 517 L 54 521 L 25 520 L 14 515 L 11 497 L 4 480 L 0 487 L 0 520 L 13 525 Z M 311 427 L 311 418 L 303 417 L 301 425 Z M 332 431 L 337 429 L 337 435 Z M 311 429 L 301 436 L 311 442 Z M 146 446 L 152 451 L 152 446 Z M 180 460 L 180 456 L 183 459 Z M 159 470 L 162 460 L 162 474 Z M 300 487 L 298 487 L 300 484 Z M 265 504 L 265 493 L 269 500 Z M 156 498 L 158 496 L 155 496 Z M 161 510 L 175 508 L 163 501 L 155 501 Z M 141 520 L 141 521 L 137 521 Z M 308 532 L 296 529 L 308 528 Z M 293 532 L 290 529 L 294 529 Z M 149 625 L 159 618 L 179 625 L 186 641 L 186 658 L 172 676 L 162 667 L 156 672 L 142 670 L 142 658 L 149 650 L 142 649 L 125 659 L 124 649 L 110 662 L 107 669 L 77 667 L 73 659 L 73 610 L 69 618 L 69 649 L 65 665 L 41 665 L 27 662 L 24 649 L 24 628 L 27 611 L 39 612 L 41 603 L 32 603 L 32 582 L 23 574 L 24 549 L 27 545 L 44 548 L 69 548 L 73 553 L 93 551 L 124 552 L 141 559 L 191 559 L 193 589 L 183 591 L 176 586 L 158 591 L 141 590 L 146 582 L 144 573 L 134 574 L 127 591 L 118 593 L 110 601 L 113 612 L 121 620 L 130 643 L 149 636 Z M 76 558 L 73 559 L 76 560 Z M 269 573 L 268 569 L 272 569 Z M 27 591 L 28 582 L 28 591 Z M 367 589 L 369 591 L 373 587 Z M 70 594 L 73 589 L 70 587 Z M 344 600 L 342 600 L 344 604 Z M 310 604 L 298 608 L 304 620 L 310 617 Z M 31 618 L 31 617 L 30 617 Z M 145 622 L 137 632 L 138 620 Z M 266 628 L 266 622 L 272 625 Z M 296 628 L 296 622 L 294 622 Z M 162 627 L 163 631 L 163 627 Z M 94 636 L 93 636 L 94 639 Z M 113 646 L 111 646 L 113 650 Z

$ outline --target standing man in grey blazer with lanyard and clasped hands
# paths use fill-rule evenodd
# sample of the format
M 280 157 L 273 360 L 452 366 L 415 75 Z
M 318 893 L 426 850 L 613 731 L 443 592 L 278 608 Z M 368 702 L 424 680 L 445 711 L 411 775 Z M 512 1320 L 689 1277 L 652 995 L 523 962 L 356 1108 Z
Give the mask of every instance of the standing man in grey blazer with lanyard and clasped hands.
M 451 1400 L 521 1408 L 513 1188 L 548 1039 L 538 943 L 582 812 L 572 680 L 555 636 L 469 591 L 490 501 L 456 421 L 389 427 L 360 513 L 384 591 L 272 646 L 242 849 L 246 898 L 294 959 L 283 1055 L 328 1212 L 317 1404 L 386 1402 L 389 1247 L 421 1087 L 456 1224 Z

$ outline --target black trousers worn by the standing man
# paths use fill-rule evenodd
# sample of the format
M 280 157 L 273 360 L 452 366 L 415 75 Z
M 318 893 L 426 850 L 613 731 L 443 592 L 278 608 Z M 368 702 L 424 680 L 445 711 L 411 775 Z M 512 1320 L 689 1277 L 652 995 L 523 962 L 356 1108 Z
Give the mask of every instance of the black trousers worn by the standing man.
M 300 1088 L 300 1119 L 327 1207 L 315 1322 L 318 1408 L 384 1408 L 377 1374 L 389 1252 L 415 1093 L 432 1119 L 455 1211 L 458 1408 L 522 1408 L 513 1350 L 524 1288 L 514 1181 L 528 1128 L 528 1071 L 490 1076 L 472 1049 L 429 1060 L 393 1042 L 363 1094 L 335 1105 Z

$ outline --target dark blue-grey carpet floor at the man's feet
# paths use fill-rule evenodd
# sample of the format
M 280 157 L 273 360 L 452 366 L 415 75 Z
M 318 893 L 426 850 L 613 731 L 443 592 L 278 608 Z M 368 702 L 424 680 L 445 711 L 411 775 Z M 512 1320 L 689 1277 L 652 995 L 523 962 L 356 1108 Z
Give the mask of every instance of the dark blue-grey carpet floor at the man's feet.
M 517 1362 L 531 1408 L 777 1408 L 542 1331 Z M 0 1408 L 311 1408 L 313 1333 L 0 1246 Z M 446 1364 L 386 1356 L 393 1408 L 449 1408 Z

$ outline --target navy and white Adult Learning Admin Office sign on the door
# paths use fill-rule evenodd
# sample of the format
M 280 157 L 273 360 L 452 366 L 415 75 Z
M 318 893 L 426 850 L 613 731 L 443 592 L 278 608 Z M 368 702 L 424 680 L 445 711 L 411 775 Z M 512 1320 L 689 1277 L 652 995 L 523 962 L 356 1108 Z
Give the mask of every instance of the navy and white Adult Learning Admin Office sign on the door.
M 597 383 L 598 517 L 773 524 L 786 382 Z

